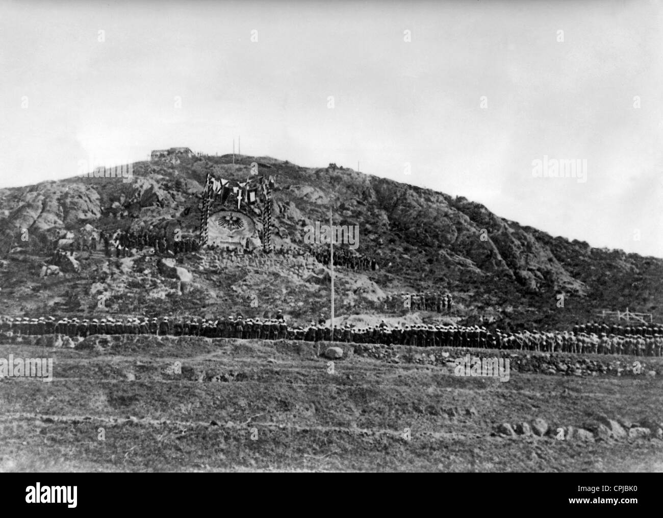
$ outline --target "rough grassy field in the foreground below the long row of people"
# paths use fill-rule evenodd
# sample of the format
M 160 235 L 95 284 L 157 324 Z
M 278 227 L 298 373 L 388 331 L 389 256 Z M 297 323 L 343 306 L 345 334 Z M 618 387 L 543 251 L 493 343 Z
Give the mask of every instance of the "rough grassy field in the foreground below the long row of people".
M 512 369 L 500 382 L 344 348 L 332 365 L 308 342 L 2 344 L 0 358 L 52 357 L 54 378 L 0 379 L 0 471 L 663 471 L 656 426 L 644 438 L 556 431 L 599 416 L 627 432 L 660 423 L 660 375 Z M 551 431 L 496 432 L 537 418 Z

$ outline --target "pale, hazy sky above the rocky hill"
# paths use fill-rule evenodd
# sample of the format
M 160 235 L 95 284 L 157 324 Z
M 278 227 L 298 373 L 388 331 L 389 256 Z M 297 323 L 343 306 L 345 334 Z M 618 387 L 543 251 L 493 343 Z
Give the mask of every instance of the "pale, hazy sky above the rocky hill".
M 0 0 L 0 187 L 238 137 L 663 257 L 663 5 Z

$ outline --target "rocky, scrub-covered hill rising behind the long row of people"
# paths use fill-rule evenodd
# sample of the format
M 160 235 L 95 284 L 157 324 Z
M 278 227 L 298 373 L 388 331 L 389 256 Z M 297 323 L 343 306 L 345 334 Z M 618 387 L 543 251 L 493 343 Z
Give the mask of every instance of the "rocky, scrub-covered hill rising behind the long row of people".
M 83 251 L 76 254 L 78 271 L 40 277 L 48 243 L 57 239 L 117 229 L 197 235 L 208 172 L 244 181 L 257 162 L 261 174 L 276 178 L 277 247 L 303 247 L 304 227 L 327 223 L 331 209 L 334 224 L 359 226 L 357 251 L 378 260 L 377 271 L 337 269 L 338 315 L 404 316 L 408 310 L 389 302 L 389 294 L 449 291 L 457 302 L 453 314 L 408 318 L 473 323 L 484 317 L 506 328 L 559 328 L 593 319 L 603 308 L 663 316 L 662 259 L 552 237 L 465 198 L 348 168 L 304 168 L 269 157 L 232 162 L 231 155 L 137 162 L 130 182 L 78 176 L 0 190 L 0 312 L 91 318 L 237 310 L 263 316 L 280 309 L 300 322 L 328 314 L 328 272 L 319 263 L 228 264 L 201 249 L 175 258 L 192 277 L 183 291 L 147 249 L 123 259 Z

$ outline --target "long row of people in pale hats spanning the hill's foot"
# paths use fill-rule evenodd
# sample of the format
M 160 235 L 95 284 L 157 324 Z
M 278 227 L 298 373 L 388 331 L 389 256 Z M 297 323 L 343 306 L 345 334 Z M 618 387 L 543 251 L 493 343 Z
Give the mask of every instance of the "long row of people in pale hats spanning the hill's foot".
M 400 344 L 418 347 L 489 348 L 528 350 L 538 352 L 569 352 L 574 354 L 630 354 L 661 356 L 663 335 L 619 336 L 572 332 L 491 332 L 483 326 L 443 326 L 406 324 L 355 327 L 349 324 L 335 327 L 333 332 L 324 317 L 318 324 L 288 326 L 282 313 L 276 318 L 248 318 L 228 316 L 216 320 L 206 318 L 4 318 L 3 332 L 41 335 L 66 334 L 154 334 L 172 336 L 203 336 L 206 338 L 254 338 L 263 340 L 305 340 L 308 342 L 335 341 L 355 344 Z

